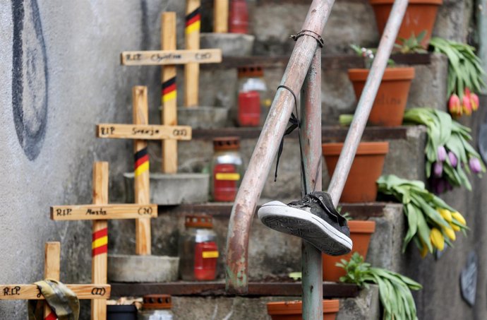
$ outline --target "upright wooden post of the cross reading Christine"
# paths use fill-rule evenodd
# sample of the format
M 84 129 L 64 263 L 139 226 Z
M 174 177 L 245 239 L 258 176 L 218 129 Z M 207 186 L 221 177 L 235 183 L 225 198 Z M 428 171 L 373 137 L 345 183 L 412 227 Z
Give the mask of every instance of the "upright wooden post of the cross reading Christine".
M 161 49 L 176 49 L 176 13 L 161 15 Z M 162 67 L 161 124 L 177 124 L 176 66 Z M 162 141 L 162 172 L 176 173 L 178 170 L 178 145 L 175 140 Z

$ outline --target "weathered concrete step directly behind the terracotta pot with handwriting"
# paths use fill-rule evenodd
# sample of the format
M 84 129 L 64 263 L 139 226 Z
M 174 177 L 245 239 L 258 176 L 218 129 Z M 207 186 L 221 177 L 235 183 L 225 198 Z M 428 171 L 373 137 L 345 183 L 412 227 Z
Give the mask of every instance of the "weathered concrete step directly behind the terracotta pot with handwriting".
M 397 65 L 414 67 L 415 78 L 407 100 L 407 107 L 434 107 L 445 109 L 447 88 L 447 59 L 441 54 L 399 54 L 392 56 Z M 280 84 L 289 56 L 248 56 L 224 57 L 222 64 L 201 65 L 199 103 L 228 109 L 227 126 L 236 125 L 237 115 L 237 70 L 238 66 L 261 65 L 267 85 L 266 99 L 272 101 Z M 356 97 L 347 69 L 361 68 L 361 59 L 354 55 L 342 54 L 322 58 L 322 122 L 336 124 L 339 114 L 353 113 Z M 178 69 L 183 78 L 183 70 Z M 184 105 L 183 82 L 177 83 L 178 105 Z M 296 93 L 297 94 L 297 93 Z M 263 109 L 261 122 L 265 120 Z M 156 118 L 157 119 L 157 118 Z

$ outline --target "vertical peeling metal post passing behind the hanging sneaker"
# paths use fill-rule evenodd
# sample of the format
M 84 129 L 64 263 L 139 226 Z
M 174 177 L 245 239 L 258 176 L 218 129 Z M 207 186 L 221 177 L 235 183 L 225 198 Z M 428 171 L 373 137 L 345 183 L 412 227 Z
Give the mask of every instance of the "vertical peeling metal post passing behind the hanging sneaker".
M 301 143 L 306 191 L 321 191 L 321 50 L 317 49 L 301 91 Z M 303 319 L 323 319 L 323 261 L 321 251 L 301 246 Z

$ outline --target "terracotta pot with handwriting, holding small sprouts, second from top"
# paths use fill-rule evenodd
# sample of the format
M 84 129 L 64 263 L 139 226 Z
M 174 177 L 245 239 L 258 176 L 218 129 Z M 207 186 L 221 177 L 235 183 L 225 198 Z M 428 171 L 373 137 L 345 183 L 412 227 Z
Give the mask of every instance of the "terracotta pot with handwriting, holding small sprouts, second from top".
M 359 100 L 366 83 L 368 69 L 349 69 L 349 79 L 354 85 L 355 96 Z M 400 126 L 404 117 L 407 95 L 414 78 L 414 68 L 386 68 L 371 114 L 370 124 L 377 126 Z

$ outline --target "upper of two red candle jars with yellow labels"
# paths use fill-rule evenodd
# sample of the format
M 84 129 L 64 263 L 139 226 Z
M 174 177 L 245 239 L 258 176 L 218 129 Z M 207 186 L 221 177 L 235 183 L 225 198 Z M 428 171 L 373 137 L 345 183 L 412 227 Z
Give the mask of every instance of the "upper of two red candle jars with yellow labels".
M 211 163 L 211 189 L 213 201 L 230 202 L 235 200 L 244 166 L 239 137 L 213 139 L 213 158 Z

